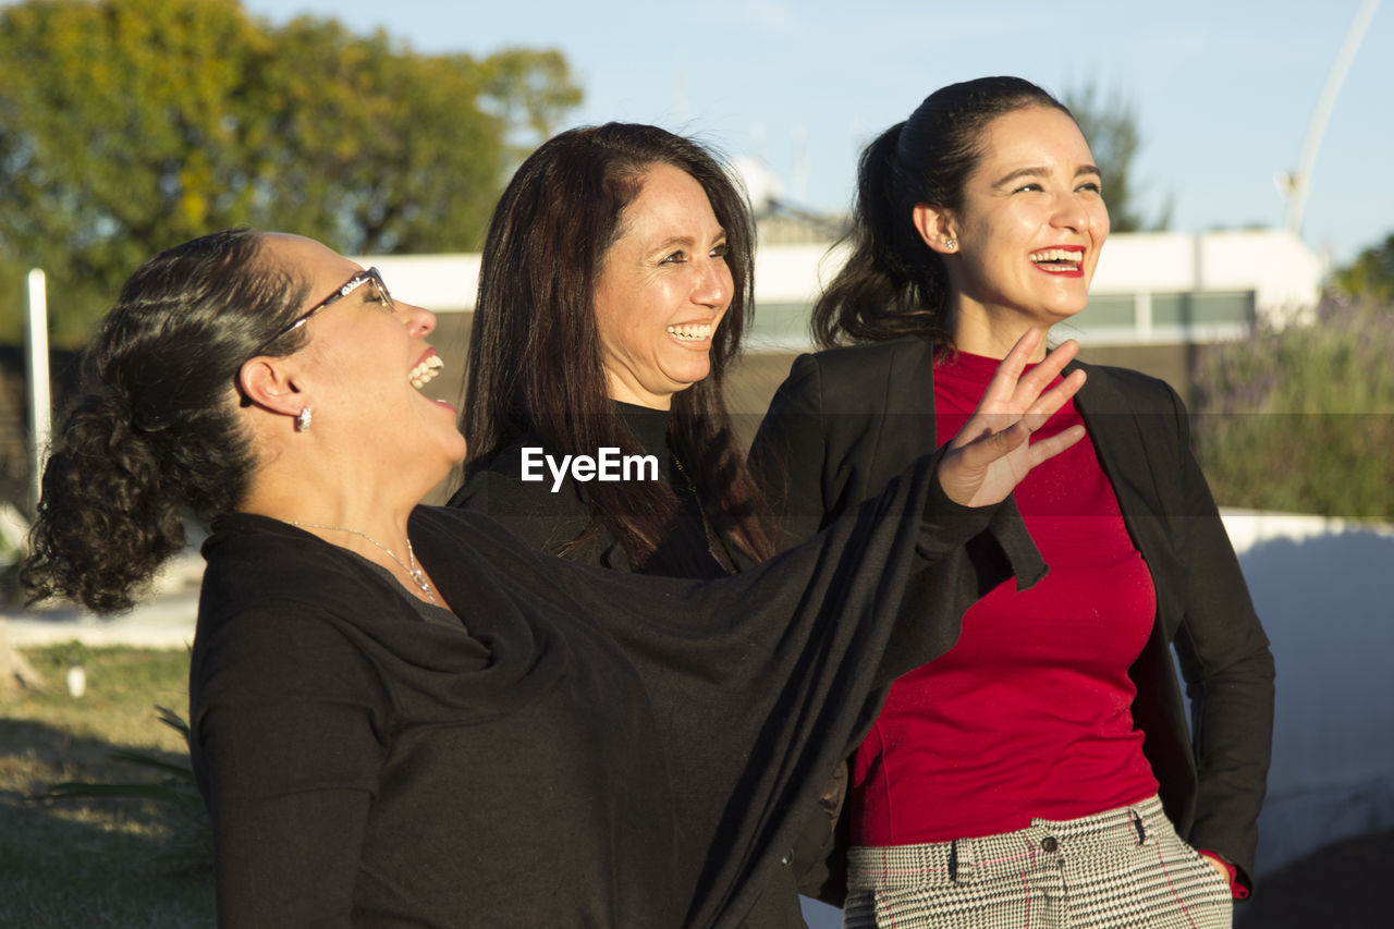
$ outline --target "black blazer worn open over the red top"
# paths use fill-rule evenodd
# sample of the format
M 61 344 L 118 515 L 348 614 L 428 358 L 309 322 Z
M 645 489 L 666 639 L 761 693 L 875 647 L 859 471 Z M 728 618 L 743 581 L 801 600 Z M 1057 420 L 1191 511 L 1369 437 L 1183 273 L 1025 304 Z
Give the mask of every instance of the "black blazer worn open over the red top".
M 933 448 L 933 354 L 912 336 L 795 361 L 750 452 L 782 543 L 817 531 Z M 1075 403 L 1157 589 L 1156 625 L 1131 668 L 1143 752 L 1177 831 L 1252 882 L 1273 737 L 1269 640 L 1190 453 L 1181 399 L 1135 371 L 1073 367 L 1089 374 Z

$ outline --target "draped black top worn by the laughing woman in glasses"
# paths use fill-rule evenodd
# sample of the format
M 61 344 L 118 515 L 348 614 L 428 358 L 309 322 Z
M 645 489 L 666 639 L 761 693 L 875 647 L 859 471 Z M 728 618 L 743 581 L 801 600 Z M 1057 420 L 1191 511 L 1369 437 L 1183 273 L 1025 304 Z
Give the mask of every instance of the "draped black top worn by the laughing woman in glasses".
M 962 545 L 990 516 L 920 463 L 810 545 L 701 583 L 418 508 L 457 628 L 343 548 L 217 520 L 190 720 L 220 923 L 732 925 L 867 695 L 1002 579 L 1001 551 Z M 914 572 L 948 612 L 896 626 Z

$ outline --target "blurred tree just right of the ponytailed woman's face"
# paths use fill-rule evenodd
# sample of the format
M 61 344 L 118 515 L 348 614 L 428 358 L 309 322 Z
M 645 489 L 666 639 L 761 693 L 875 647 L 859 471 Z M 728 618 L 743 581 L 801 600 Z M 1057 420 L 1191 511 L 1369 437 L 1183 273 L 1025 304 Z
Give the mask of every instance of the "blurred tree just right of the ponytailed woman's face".
M 1075 114 L 1094 163 L 1104 174 L 1104 202 L 1112 232 L 1158 232 L 1170 226 L 1170 195 L 1154 219 L 1142 212 L 1139 199 L 1144 186 L 1138 183 L 1133 160 L 1142 148 L 1142 133 L 1132 103 L 1117 91 L 1101 100 L 1093 82 L 1069 91 L 1062 102 Z

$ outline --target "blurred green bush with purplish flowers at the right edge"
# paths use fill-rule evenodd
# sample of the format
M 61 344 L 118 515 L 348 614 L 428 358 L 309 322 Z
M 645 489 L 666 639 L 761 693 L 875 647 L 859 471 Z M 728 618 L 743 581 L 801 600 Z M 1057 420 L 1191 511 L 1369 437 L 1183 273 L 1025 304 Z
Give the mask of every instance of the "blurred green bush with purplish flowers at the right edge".
M 1328 299 L 1308 326 L 1211 346 L 1195 435 L 1231 506 L 1394 518 L 1394 305 Z

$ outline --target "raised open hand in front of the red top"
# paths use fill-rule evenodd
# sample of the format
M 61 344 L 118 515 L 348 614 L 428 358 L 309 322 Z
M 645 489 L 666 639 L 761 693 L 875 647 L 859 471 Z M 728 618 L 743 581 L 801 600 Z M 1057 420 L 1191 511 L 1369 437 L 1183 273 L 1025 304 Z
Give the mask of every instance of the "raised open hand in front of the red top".
M 1032 328 L 1016 340 L 997 365 L 973 417 L 940 460 L 940 485 L 955 504 L 987 506 L 1001 502 L 1033 467 L 1085 438 L 1085 427 L 1072 425 L 1040 442 L 1027 441 L 1085 384 L 1085 372 L 1073 371 L 1046 391 L 1079 350 L 1073 340 L 1057 347 L 1022 377 L 1044 338 L 1044 329 Z

